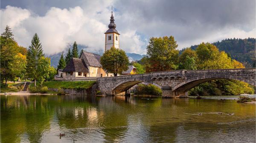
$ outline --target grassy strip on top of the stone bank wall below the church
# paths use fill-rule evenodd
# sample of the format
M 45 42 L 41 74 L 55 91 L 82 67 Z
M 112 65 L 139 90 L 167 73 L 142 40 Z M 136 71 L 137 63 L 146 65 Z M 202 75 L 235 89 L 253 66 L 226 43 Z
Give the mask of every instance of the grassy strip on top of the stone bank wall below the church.
M 46 81 L 44 86 L 48 88 L 69 88 L 69 89 L 88 89 L 95 84 L 96 81 Z

